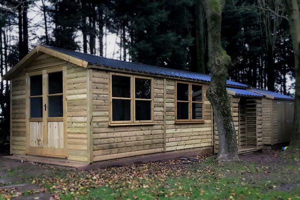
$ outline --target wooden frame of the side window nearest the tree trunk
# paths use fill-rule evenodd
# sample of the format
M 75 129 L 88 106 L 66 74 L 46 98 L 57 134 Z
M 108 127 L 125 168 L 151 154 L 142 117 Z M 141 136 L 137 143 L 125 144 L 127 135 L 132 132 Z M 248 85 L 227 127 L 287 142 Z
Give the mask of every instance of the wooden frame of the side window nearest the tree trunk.
M 177 83 L 187 84 L 188 85 L 188 100 L 177 100 Z M 193 101 L 192 100 L 192 85 L 199 85 L 202 87 L 202 101 Z M 204 122 L 204 101 L 203 101 L 203 84 L 186 82 L 186 81 L 175 81 L 175 123 L 203 123 Z M 177 119 L 177 102 L 188 102 L 188 119 Z M 202 104 L 202 118 L 201 119 L 192 119 L 192 103 L 201 103 Z

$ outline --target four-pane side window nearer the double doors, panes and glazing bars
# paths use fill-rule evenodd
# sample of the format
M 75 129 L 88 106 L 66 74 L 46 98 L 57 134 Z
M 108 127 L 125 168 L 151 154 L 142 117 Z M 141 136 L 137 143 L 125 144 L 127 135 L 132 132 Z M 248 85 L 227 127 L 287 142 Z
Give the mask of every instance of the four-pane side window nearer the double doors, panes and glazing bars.
M 110 80 L 110 122 L 152 122 L 152 79 L 111 74 Z

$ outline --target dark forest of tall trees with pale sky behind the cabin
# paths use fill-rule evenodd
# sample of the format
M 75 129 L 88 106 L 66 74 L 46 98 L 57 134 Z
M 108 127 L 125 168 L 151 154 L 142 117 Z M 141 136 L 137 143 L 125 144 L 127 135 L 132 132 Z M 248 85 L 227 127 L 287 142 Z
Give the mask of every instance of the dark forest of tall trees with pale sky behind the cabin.
M 0 0 L 0 75 L 36 44 L 209 73 L 206 18 L 197 0 Z M 229 78 L 294 92 L 283 0 L 226 0 L 222 45 Z M 9 81 L 0 82 L 0 144 L 9 140 Z

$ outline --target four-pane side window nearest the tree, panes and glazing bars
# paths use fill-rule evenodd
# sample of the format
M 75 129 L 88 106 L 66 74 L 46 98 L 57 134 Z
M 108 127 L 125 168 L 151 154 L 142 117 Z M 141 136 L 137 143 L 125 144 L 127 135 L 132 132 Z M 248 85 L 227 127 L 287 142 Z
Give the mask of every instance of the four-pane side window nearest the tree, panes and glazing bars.
M 202 85 L 176 82 L 176 122 L 203 121 Z

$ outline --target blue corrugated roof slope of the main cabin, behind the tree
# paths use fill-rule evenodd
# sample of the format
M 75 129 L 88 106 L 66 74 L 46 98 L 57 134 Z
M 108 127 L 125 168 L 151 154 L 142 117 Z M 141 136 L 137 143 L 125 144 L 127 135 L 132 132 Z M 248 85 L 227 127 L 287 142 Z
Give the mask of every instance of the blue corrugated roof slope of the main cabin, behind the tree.
M 66 49 L 52 47 L 52 46 L 45 46 L 45 47 L 51 48 L 53 50 L 57 50 L 59 52 L 62 52 L 64 54 L 67 54 L 67 55 L 70 55 L 70 56 L 73 56 L 73 57 L 76 57 L 76 58 L 79 58 L 82 60 L 85 60 L 90 64 L 98 64 L 98 65 L 103 65 L 103 66 L 116 68 L 116 69 L 124 69 L 124 70 L 136 71 L 136 72 L 144 72 L 144 73 L 159 74 L 159 75 L 179 77 L 179 78 L 187 78 L 187 79 L 200 80 L 200 81 L 205 81 L 205 82 L 210 81 L 210 76 L 207 74 L 195 73 L 195 72 L 183 71 L 183 70 L 177 70 L 177 69 L 170 69 L 170 68 L 164 68 L 164 67 L 159 67 L 159 66 L 151 66 L 151 65 L 134 63 L 134 62 L 121 61 L 121 60 L 106 58 L 106 57 L 97 56 L 97 55 L 91 55 L 91 54 L 87 54 L 87 53 L 81 53 L 81 52 L 72 51 L 72 50 L 66 50 Z M 232 80 L 227 80 L 227 85 L 248 87 L 247 84 L 235 82 Z

